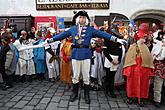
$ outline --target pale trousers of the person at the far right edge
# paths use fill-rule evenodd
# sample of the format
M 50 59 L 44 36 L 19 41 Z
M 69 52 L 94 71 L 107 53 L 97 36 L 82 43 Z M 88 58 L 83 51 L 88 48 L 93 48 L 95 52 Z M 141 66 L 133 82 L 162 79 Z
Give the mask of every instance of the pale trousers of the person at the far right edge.
M 154 77 L 154 101 L 161 102 L 161 91 L 165 79 L 155 76 Z

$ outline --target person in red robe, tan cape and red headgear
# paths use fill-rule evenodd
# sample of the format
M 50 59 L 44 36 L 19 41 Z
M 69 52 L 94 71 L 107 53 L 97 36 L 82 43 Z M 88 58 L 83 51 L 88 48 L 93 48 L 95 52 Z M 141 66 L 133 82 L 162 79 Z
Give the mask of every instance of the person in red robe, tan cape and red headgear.
M 147 34 L 148 24 L 142 23 L 136 36 L 138 39 L 144 39 Z M 149 80 L 154 76 L 153 58 L 148 47 L 144 42 L 137 41 L 130 46 L 125 59 L 124 75 L 127 77 L 127 97 L 148 98 L 149 96 Z

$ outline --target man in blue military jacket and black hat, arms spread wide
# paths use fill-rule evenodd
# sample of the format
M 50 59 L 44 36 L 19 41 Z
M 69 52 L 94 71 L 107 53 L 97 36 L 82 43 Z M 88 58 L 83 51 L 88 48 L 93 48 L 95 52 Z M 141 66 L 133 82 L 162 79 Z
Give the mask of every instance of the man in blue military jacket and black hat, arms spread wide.
M 90 59 L 92 58 L 92 50 L 90 48 L 90 41 L 92 37 L 105 38 L 114 42 L 125 42 L 122 39 L 118 39 L 108 33 L 99 31 L 89 26 L 89 16 L 86 11 L 79 11 L 73 17 L 73 21 L 76 25 L 71 27 L 69 30 L 64 31 L 52 39 L 48 40 L 48 43 L 65 39 L 72 36 L 73 45 L 71 53 L 72 62 L 72 83 L 73 83 L 73 94 L 70 101 L 73 102 L 78 96 L 79 89 L 79 76 L 82 73 L 84 82 L 84 98 L 85 103 L 90 104 L 89 98 L 89 78 L 90 78 Z

